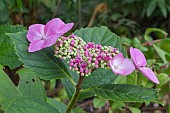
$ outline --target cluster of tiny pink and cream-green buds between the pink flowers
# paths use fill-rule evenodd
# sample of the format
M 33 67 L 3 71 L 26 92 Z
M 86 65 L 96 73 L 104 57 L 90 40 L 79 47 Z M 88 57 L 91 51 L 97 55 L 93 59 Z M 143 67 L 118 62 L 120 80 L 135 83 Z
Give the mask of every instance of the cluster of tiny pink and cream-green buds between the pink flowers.
M 63 41 L 63 39 L 66 40 Z M 73 46 L 71 42 L 76 43 L 74 43 Z M 70 69 L 81 76 L 88 76 L 97 68 L 109 68 L 109 61 L 119 53 L 116 48 L 111 46 L 102 46 L 101 44 L 95 44 L 94 42 L 88 42 L 86 44 L 76 35 L 61 37 L 55 48 L 56 56 L 61 59 L 69 58 Z

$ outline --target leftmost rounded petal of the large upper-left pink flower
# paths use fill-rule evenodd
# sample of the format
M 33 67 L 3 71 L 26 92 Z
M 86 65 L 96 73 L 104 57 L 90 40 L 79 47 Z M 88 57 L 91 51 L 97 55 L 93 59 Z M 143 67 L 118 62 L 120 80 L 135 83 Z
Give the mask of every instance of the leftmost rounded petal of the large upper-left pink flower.
M 36 40 L 41 40 L 44 35 L 44 27 L 43 24 L 34 24 L 29 26 L 28 33 L 26 35 L 27 39 L 30 42 L 34 42 Z

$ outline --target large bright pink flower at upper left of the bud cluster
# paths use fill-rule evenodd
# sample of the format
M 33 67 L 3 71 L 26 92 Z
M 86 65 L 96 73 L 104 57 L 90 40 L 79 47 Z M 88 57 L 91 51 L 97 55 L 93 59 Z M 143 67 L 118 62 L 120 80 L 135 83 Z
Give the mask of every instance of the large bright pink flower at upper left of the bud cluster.
M 31 42 L 29 52 L 35 52 L 56 43 L 56 40 L 68 32 L 74 23 L 65 24 L 61 19 L 54 18 L 46 25 L 33 24 L 29 26 L 27 39 Z

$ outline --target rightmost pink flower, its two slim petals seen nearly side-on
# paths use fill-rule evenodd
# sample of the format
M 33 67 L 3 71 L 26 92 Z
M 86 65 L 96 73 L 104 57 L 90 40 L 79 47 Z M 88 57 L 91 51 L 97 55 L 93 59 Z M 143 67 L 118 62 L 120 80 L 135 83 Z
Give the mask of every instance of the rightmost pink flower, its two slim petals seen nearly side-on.
M 159 84 L 159 81 L 155 76 L 154 72 L 150 68 L 146 67 L 147 62 L 144 54 L 139 49 L 131 47 L 130 55 L 135 67 L 139 71 L 141 71 L 146 78 L 148 78 L 149 80 L 156 84 Z

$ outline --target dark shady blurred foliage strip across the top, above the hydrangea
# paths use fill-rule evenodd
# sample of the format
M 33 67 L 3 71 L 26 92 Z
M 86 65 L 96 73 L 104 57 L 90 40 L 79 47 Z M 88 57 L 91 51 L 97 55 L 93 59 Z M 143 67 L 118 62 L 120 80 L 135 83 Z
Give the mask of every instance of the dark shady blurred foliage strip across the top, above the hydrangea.
M 59 17 L 74 28 L 108 26 L 117 35 L 143 34 L 148 27 L 170 32 L 170 0 L 0 0 L 0 23 L 46 23 Z

